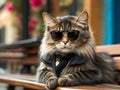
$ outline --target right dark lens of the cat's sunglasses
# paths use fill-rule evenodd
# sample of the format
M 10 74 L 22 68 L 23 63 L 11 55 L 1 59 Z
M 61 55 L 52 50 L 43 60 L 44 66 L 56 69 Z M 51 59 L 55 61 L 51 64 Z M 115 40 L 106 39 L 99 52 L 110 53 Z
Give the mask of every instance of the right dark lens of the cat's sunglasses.
M 68 32 L 68 38 L 70 41 L 75 41 L 78 39 L 79 31 L 77 30 L 71 30 Z

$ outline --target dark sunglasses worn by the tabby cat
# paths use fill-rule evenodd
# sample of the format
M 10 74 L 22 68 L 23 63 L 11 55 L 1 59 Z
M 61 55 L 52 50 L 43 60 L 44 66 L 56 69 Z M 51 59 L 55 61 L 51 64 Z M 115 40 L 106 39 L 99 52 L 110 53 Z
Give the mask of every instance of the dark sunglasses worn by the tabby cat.
M 79 36 L 79 31 L 77 30 L 70 30 L 70 31 L 59 31 L 59 30 L 54 30 L 51 31 L 50 34 L 52 36 L 52 39 L 54 41 L 59 41 L 63 38 L 63 32 L 67 32 L 67 37 L 70 41 L 75 41 L 78 39 Z

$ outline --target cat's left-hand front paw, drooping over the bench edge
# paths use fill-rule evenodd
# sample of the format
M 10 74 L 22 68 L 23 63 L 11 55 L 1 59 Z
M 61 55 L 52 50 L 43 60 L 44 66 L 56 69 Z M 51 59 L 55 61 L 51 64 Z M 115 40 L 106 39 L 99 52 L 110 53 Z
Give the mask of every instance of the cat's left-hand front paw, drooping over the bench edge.
M 49 90 L 54 90 L 58 85 L 57 78 L 51 77 L 46 81 L 46 86 Z

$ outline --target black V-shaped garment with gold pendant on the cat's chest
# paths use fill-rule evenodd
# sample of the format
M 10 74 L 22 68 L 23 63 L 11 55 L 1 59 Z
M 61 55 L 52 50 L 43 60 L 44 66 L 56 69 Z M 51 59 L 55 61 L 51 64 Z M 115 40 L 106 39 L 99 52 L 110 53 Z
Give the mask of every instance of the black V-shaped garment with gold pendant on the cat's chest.
M 45 64 L 50 65 L 53 68 L 56 75 L 59 77 L 59 75 L 65 67 L 81 65 L 84 64 L 87 60 L 83 56 L 79 56 L 76 54 L 69 54 L 66 57 L 63 57 L 60 54 L 54 54 L 49 57 L 44 57 L 42 61 Z

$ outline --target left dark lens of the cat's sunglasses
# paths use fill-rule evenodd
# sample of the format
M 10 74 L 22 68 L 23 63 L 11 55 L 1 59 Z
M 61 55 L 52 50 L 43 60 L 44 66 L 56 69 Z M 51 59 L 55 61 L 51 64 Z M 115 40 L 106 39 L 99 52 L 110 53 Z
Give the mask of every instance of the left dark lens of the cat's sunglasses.
M 54 31 L 51 31 L 51 36 L 54 41 L 58 41 L 62 39 L 63 34 L 58 30 L 54 30 Z

